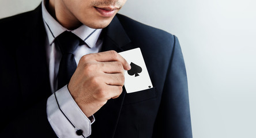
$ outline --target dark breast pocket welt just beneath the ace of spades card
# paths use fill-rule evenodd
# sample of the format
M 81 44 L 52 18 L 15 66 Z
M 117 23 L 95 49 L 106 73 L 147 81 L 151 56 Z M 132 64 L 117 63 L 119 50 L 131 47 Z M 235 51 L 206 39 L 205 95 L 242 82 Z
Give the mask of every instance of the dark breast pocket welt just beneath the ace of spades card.
M 135 104 L 137 102 L 146 101 L 152 98 L 156 98 L 156 87 L 151 89 L 141 90 L 134 93 L 126 93 L 125 100 L 123 101 L 123 105 L 127 104 Z

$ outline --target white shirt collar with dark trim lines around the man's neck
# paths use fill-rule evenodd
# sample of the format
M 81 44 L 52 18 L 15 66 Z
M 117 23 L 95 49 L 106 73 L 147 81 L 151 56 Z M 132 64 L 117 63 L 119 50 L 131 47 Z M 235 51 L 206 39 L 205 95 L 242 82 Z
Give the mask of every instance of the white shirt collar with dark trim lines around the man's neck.
M 42 1 L 42 13 L 43 13 L 43 20 L 44 26 L 46 28 L 47 36 L 49 44 L 52 45 L 54 40 L 59 34 L 67 31 L 70 31 L 76 34 L 80 39 L 84 40 L 85 43 L 90 47 L 95 47 L 97 40 L 99 39 L 100 33 L 102 29 L 93 29 L 89 28 L 86 25 L 81 25 L 79 28 L 74 30 L 68 30 L 64 28 L 58 21 L 56 21 L 50 13 L 48 13 L 46 6 L 44 5 L 47 0 Z

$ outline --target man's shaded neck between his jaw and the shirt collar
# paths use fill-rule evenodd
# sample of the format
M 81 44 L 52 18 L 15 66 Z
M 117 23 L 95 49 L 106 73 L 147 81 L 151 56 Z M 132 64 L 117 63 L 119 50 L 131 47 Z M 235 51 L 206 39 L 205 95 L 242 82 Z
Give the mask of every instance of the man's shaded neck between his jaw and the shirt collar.
M 71 13 L 63 1 L 50 0 L 46 3 L 46 8 L 52 17 L 55 18 L 63 27 L 73 30 L 82 25 L 77 18 Z

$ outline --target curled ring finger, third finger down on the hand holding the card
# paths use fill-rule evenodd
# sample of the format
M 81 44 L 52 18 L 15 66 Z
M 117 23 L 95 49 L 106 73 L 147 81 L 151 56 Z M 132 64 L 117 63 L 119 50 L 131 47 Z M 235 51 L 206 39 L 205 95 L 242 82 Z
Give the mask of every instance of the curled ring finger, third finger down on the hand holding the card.
M 125 76 L 121 73 L 119 74 L 105 74 L 103 76 L 104 82 L 107 85 L 113 86 L 123 86 L 125 83 Z

